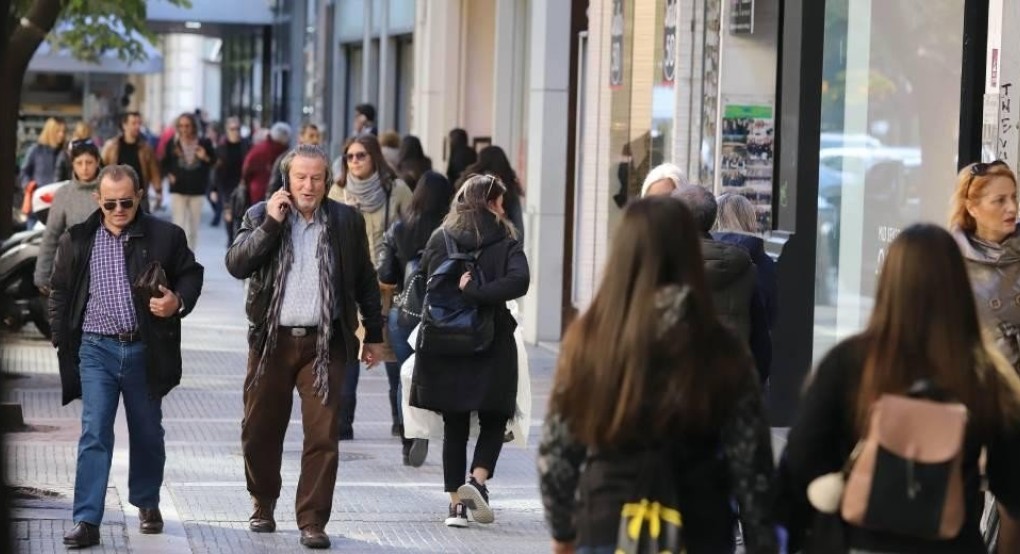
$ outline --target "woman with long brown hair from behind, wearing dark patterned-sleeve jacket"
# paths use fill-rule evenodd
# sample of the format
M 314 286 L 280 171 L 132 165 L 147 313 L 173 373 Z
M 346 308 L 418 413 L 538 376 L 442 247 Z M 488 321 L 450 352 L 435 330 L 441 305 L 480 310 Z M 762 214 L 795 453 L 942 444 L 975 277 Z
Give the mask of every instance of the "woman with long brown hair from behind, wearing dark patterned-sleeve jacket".
M 669 197 L 630 203 L 609 260 L 564 336 L 539 446 L 554 551 L 646 552 L 625 543 L 648 530 L 630 511 L 648 500 L 663 508 L 661 537 L 672 510 L 686 552 L 731 553 L 735 498 L 747 552 L 776 552 L 758 375 L 715 315 L 694 216 Z

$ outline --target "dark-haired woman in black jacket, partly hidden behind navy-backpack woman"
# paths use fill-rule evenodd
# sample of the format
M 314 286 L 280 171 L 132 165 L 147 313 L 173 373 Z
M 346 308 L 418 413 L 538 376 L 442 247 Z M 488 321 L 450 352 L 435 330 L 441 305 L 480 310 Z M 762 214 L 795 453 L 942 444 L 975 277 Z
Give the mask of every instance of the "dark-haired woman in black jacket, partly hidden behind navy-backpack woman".
M 395 287 L 397 298 L 390 309 L 388 328 L 390 344 L 397 356 L 397 361 L 386 363 L 387 376 L 390 379 L 390 409 L 393 414 L 393 431 L 404 441 L 404 465 L 420 467 L 428 454 L 427 439 L 409 440 L 404 435 L 404 419 L 401 414 L 400 368 L 411 357 L 411 345 L 408 337 L 420 313 L 417 309 L 406 306 L 409 288 L 424 288 L 424 278 L 417 270 L 421 264 L 421 254 L 428 243 L 428 238 L 443 223 L 450 211 L 450 201 L 453 199 L 453 187 L 450 182 L 436 171 L 426 171 L 418 181 L 411 197 L 411 208 L 406 216 L 394 221 L 382 239 L 382 256 L 379 259 L 379 283 Z M 420 299 L 420 298 L 419 298 Z M 410 312 L 409 312 L 410 310 Z

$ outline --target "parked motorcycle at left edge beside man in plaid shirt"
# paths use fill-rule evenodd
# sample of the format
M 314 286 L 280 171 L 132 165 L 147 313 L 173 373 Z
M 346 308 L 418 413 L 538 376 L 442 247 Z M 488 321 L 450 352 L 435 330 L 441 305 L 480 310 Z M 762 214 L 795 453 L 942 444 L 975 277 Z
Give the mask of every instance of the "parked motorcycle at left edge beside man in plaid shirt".
M 31 321 L 44 337 L 52 336 L 47 300 L 36 287 L 34 276 L 53 195 L 63 185 L 56 183 L 34 191 L 32 213 L 37 224 L 0 243 L 0 326 L 5 331 L 20 331 Z

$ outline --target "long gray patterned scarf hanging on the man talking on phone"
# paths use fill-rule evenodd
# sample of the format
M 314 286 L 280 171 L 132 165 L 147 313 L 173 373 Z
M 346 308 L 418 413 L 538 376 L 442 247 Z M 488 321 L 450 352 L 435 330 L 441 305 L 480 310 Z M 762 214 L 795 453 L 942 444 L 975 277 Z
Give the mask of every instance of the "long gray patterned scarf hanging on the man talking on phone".
M 329 218 L 327 217 L 327 203 L 323 202 L 315 212 L 322 225 L 319 234 L 318 245 L 315 248 L 315 258 L 319 260 L 319 266 L 324 269 L 319 271 L 319 295 L 322 299 L 322 311 L 319 313 L 318 337 L 315 341 L 315 381 L 312 387 L 315 395 L 322 399 L 325 405 L 329 397 L 329 341 L 333 339 L 333 274 L 335 260 L 333 248 L 329 245 Z M 266 215 L 268 217 L 268 215 Z M 301 215 L 298 215 L 301 217 Z M 265 372 L 266 360 L 269 354 L 276 347 L 276 337 L 279 331 L 279 311 L 284 304 L 284 288 L 287 285 L 287 275 L 291 271 L 294 263 L 294 245 L 291 243 L 291 222 L 284 221 L 284 231 L 279 238 L 279 250 L 276 251 L 277 269 L 273 280 L 272 298 L 269 300 L 269 312 L 266 314 L 265 343 L 262 345 L 262 356 L 259 359 L 258 367 L 255 369 L 255 377 L 252 380 L 251 388 L 258 385 L 259 377 Z

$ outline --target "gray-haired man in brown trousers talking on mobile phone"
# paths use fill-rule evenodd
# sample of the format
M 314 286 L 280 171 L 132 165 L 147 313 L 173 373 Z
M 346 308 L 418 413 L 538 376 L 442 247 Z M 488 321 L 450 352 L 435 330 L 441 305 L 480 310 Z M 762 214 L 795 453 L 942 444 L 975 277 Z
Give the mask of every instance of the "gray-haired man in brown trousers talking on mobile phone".
M 226 252 L 226 268 L 250 280 L 246 311 L 248 373 L 241 443 L 254 503 L 249 528 L 272 533 L 280 489 L 284 436 L 294 388 L 301 396 L 304 450 L 296 509 L 301 544 L 329 548 L 325 524 L 340 460 L 344 368 L 358 359 L 358 312 L 365 328 L 361 361 L 381 355 L 379 289 L 365 221 L 326 199 L 329 158 L 301 145 L 280 162 L 283 189 L 252 206 Z

